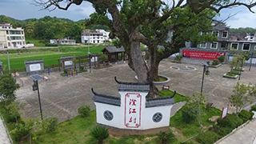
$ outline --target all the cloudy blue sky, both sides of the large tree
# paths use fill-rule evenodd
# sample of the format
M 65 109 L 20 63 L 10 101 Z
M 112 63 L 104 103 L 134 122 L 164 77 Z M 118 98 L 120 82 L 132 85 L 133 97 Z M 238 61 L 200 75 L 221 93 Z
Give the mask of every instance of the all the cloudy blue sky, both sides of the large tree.
M 69 18 L 73 21 L 90 18 L 94 8 L 89 2 L 82 2 L 80 6 L 72 5 L 69 10 L 42 10 L 40 6 L 34 6 L 33 0 L 0 0 L 0 15 L 10 18 L 24 20 L 27 18 L 43 18 L 45 16 L 57 18 Z M 256 12 L 256 7 L 253 8 Z M 235 14 L 226 20 L 227 26 L 231 28 L 253 27 L 256 28 L 256 14 L 251 13 L 243 6 L 222 10 L 218 20 L 225 20 L 228 16 Z

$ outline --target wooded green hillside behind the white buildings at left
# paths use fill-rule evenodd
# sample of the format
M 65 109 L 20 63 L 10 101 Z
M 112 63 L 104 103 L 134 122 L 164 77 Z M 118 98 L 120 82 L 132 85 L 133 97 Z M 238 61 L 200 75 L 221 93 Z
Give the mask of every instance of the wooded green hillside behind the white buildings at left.
M 26 39 L 40 39 L 49 42 L 54 38 L 74 38 L 77 42 L 81 42 L 81 30 L 108 30 L 107 26 L 90 25 L 85 26 L 84 20 L 74 22 L 67 18 L 30 18 L 26 20 L 17 20 L 14 18 L 0 15 L 0 23 L 11 23 L 13 27 L 22 27 L 25 30 Z

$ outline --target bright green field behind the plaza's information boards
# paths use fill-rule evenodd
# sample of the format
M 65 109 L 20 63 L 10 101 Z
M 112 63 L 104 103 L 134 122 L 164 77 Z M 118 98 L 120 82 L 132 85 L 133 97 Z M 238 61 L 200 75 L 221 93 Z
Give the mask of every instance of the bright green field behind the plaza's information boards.
M 103 49 L 104 46 L 91 46 L 90 53 L 101 53 L 100 51 Z M 44 65 L 57 65 L 58 59 L 61 56 L 82 56 L 88 54 L 87 47 L 78 47 L 78 48 L 61 48 L 56 51 L 40 51 L 33 52 L 33 53 L 21 53 L 17 54 L 10 54 L 10 69 L 22 69 L 25 67 L 24 61 L 26 60 L 36 60 L 36 59 L 43 59 Z M 8 70 L 8 60 L 7 55 L 0 55 L 0 62 L 3 64 L 3 70 Z

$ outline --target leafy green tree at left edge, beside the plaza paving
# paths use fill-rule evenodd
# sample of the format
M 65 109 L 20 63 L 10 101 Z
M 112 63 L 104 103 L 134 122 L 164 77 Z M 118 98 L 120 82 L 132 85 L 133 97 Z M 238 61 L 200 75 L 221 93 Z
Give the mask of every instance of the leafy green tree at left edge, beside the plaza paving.
M 0 95 L 3 95 L 6 104 L 14 102 L 16 99 L 15 91 L 18 90 L 20 86 L 16 84 L 14 78 L 10 74 L 0 75 Z

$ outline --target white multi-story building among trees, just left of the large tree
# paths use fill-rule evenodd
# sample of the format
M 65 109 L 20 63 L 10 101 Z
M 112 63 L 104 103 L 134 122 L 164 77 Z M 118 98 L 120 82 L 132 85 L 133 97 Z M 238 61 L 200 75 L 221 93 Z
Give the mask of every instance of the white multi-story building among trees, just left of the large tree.
M 103 43 L 109 41 L 110 32 L 105 30 L 82 30 L 81 42 L 82 43 Z

